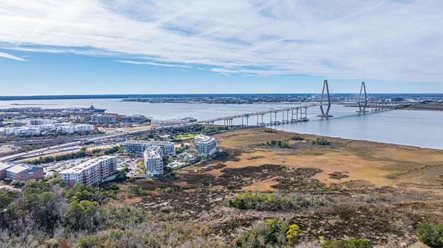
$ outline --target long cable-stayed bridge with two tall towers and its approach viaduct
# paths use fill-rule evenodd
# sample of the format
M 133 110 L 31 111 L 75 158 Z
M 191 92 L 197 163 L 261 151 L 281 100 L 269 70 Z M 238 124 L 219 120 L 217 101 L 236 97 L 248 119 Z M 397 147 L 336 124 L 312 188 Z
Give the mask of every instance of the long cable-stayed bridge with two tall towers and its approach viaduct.
M 316 97 L 313 97 L 316 99 Z M 394 102 L 383 102 L 383 101 L 371 101 L 370 96 L 366 93 L 365 83 L 361 83 L 360 93 L 358 99 L 355 101 L 350 101 L 347 99 L 346 102 L 334 102 L 335 104 L 346 104 L 354 105 L 356 112 L 358 113 L 368 113 L 374 111 L 384 111 L 388 109 L 401 108 L 404 106 L 410 106 L 413 104 L 418 104 L 419 102 L 404 102 L 404 101 L 394 101 Z M 217 117 L 210 120 L 201 120 L 198 122 L 190 122 L 179 125 L 172 126 L 162 126 L 159 128 L 148 128 L 138 131 L 129 131 L 126 133 L 117 133 L 111 135 L 102 135 L 100 137 L 90 137 L 87 140 L 72 140 L 72 142 L 66 144 L 59 144 L 56 146 L 49 146 L 44 149 L 37 149 L 34 151 L 29 151 L 26 153 L 17 153 L 14 155 L 8 155 L 0 158 L 0 162 L 11 161 L 17 158 L 23 158 L 32 155 L 41 155 L 46 151 L 60 150 L 71 146 L 78 146 L 86 144 L 87 142 L 100 142 L 103 140 L 116 140 L 119 138 L 127 138 L 131 135 L 136 135 L 138 133 L 156 132 L 161 130 L 170 130 L 174 128 L 187 128 L 189 126 L 195 126 L 196 124 L 205 125 L 224 125 L 224 126 L 272 126 L 278 124 L 296 123 L 296 122 L 307 122 L 307 111 L 313 110 L 316 107 L 320 107 L 320 113 L 318 117 L 328 118 L 332 117 L 329 115 L 331 109 L 331 97 L 329 95 L 329 88 L 327 85 L 327 80 L 323 83 L 323 91 L 318 102 L 303 102 L 300 104 L 294 104 L 296 106 L 289 106 L 286 108 L 270 109 L 267 111 L 259 111 L 254 113 L 245 113 L 239 115 L 232 115 L 226 117 Z M 251 120 L 250 120 L 251 118 Z

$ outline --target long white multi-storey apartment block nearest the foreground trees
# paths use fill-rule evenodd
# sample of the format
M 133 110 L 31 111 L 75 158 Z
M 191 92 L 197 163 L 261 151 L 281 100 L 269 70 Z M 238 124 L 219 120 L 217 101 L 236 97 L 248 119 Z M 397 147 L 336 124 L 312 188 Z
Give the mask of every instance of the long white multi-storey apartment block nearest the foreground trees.
M 86 186 L 98 185 L 117 172 L 116 156 L 101 156 L 61 171 L 62 182 L 73 187 L 76 182 Z

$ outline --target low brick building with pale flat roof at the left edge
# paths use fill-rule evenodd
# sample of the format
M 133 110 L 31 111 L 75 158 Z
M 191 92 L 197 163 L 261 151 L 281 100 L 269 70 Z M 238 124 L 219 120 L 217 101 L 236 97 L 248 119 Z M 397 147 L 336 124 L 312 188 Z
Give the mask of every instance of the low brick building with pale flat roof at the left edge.
M 0 162 L 0 180 L 39 180 L 44 178 L 42 166 L 35 164 L 22 164 L 17 162 Z

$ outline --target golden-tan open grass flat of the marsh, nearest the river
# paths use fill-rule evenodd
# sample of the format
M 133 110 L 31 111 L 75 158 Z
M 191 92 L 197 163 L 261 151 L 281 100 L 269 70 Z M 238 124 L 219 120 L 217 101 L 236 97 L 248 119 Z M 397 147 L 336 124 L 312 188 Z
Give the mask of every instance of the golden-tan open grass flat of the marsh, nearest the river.
M 224 162 L 227 168 L 260 166 L 261 164 L 284 164 L 294 168 L 311 167 L 322 173 L 314 179 L 329 183 L 365 180 L 376 187 L 413 187 L 415 189 L 442 189 L 443 151 L 420 149 L 412 146 L 381 144 L 377 142 L 343 140 L 327 137 L 327 146 L 311 144 L 317 136 L 301 135 L 302 141 L 291 140 L 293 133 L 264 132 L 264 128 L 244 129 L 215 135 L 220 149 L 242 151 L 237 160 Z M 269 140 L 289 140 L 290 148 L 269 149 L 257 146 Z M 251 143 L 251 141 L 253 141 Z M 221 169 L 210 171 L 220 175 Z M 329 174 L 345 173 L 347 178 L 331 179 Z M 443 176 L 442 176 L 443 177 Z M 272 180 L 266 180 L 272 184 Z M 269 190 L 266 183 L 257 189 Z

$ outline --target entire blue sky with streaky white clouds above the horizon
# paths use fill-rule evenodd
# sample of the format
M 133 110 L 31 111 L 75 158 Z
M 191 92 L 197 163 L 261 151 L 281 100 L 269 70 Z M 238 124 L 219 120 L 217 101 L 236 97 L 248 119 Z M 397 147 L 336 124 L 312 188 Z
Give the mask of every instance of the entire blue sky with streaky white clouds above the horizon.
M 443 93 L 441 0 L 0 1 L 0 95 Z

